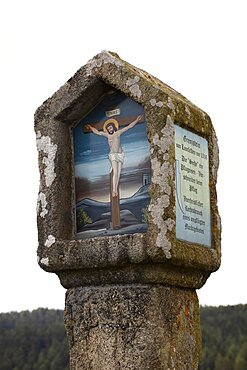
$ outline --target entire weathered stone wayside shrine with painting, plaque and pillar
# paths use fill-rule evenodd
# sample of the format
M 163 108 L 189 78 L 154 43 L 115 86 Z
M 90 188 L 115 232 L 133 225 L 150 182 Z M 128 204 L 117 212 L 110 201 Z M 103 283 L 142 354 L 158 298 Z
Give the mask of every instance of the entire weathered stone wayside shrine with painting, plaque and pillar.
M 193 370 L 220 266 L 209 116 L 115 53 L 35 113 L 38 262 L 66 292 L 71 369 Z

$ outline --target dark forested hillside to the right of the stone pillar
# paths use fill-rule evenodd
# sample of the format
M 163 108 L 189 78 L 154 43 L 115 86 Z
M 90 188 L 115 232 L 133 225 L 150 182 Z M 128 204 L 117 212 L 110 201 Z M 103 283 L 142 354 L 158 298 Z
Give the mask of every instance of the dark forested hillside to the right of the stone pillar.
M 200 370 L 247 370 L 247 305 L 201 308 Z

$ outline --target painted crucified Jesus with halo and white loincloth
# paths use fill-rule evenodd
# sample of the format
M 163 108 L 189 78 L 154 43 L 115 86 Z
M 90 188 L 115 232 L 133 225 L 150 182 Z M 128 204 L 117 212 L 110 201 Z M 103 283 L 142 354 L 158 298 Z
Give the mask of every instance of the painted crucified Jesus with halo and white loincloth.
M 98 131 L 95 127 L 87 125 L 87 129 L 91 130 L 94 134 L 99 136 L 104 136 L 108 140 L 110 153 L 109 160 L 111 162 L 111 171 L 113 171 L 112 179 L 112 196 L 117 197 L 118 195 L 118 184 L 120 179 L 120 174 L 122 166 L 124 163 L 124 151 L 121 147 L 120 136 L 134 127 L 137 122 L 143 119 L 142 115 L 137 116 L 137 118 L 131 122 L 128 126 L 125 126 L 121 129 L 119 128 L 118 121 L 116 119 L 108 119 L 105 121 L 103 126 L 103 131 Z

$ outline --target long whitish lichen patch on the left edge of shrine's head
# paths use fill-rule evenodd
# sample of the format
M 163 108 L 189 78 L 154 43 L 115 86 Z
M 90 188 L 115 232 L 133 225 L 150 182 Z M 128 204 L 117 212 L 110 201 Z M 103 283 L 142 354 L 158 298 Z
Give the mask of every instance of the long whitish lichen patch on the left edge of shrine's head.
M 45 154 L 42 163 L 45 165 L 45 183 L 46 186 L 49 187 L 56 177 L 55 158 L 57 153 L 57 145 L 51 142 L 51 138 L 49 136 L 42 136 L 40 131 L 37 132 L 36 143 L 38 151 L 41 151 Z

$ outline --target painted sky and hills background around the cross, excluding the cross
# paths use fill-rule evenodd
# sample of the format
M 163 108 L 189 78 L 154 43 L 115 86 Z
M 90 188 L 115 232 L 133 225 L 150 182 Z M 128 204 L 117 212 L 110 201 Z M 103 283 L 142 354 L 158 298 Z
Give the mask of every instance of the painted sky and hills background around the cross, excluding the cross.
M 73 129 L 77 237 L 93 237 L 146 231 L 151 175 L 146 122 L 121 135 L 125 161 L 120 177 L 121 229 L 111 230 L 110 162 L 107 139 L 84 133 L 84 125 L 105 121 L 106 111 L 120 109 L 121 117 L 144 114 L 142 106 L 120 92 L 107 94 Z M 78 220 L 81 220 L 78 222 Z

